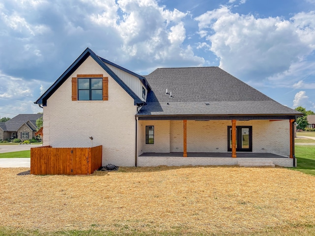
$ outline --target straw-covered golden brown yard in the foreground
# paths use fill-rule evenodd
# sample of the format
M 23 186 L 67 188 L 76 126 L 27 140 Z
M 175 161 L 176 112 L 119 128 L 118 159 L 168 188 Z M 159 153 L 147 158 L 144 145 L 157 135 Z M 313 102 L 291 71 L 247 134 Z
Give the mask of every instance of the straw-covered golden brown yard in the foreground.
M 238 234 L 315 225 L 315 177 L 285 168 L 120 168 L 18 176 L 0 168 L 0 227 Z

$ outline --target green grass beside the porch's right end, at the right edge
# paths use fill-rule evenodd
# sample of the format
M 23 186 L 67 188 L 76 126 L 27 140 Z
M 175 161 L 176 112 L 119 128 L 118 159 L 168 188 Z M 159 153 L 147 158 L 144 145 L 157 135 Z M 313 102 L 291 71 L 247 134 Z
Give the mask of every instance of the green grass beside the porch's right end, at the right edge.
M 315 176 L 315 145 L 296 145 L 297 167 L 291 168 Z

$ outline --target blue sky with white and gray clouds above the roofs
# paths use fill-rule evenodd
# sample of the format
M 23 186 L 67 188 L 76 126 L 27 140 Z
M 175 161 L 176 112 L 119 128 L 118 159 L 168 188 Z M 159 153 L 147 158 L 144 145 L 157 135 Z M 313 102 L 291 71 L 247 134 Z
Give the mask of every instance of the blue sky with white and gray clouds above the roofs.
M 220 66 L 315 111 L 315 0 L 2 0 L 0 117 L 33 102 L 87 48 L 146 75 Z

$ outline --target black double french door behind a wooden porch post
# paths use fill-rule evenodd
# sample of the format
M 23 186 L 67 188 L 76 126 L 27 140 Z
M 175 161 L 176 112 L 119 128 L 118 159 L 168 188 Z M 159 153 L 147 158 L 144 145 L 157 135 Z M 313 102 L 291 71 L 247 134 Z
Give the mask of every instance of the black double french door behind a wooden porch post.
M 232 151 L 232 126 L 227 126 L 227 151 Z M 236 151 L 252 151 L 252 126 L 236 126 Z

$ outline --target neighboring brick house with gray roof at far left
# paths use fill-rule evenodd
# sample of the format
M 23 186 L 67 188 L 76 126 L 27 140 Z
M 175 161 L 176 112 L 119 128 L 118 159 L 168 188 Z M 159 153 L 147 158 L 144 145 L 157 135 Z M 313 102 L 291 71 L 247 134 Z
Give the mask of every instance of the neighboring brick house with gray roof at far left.
M 24 141 L 36 137 L 36 120 L 42 116 L 43 114 L 20 114 L 6 122 L 0 122 L 0 140 Z

